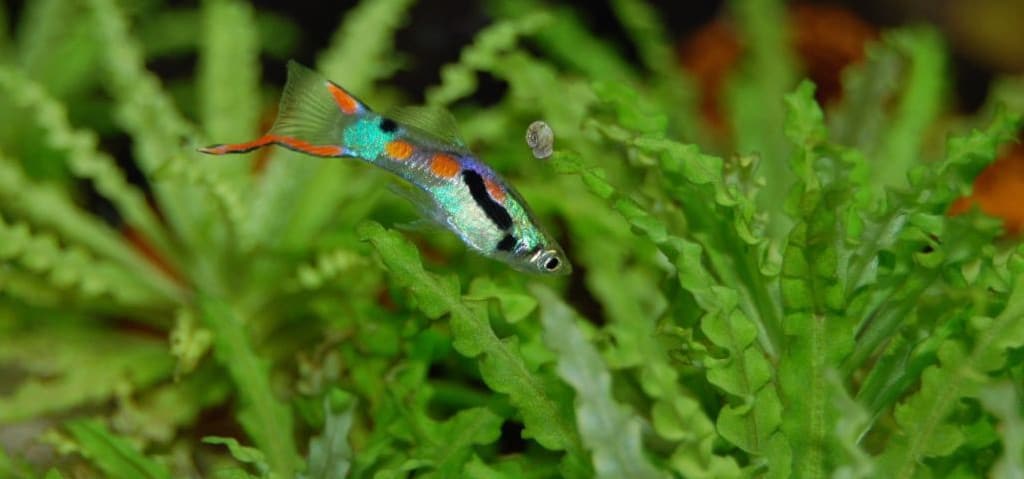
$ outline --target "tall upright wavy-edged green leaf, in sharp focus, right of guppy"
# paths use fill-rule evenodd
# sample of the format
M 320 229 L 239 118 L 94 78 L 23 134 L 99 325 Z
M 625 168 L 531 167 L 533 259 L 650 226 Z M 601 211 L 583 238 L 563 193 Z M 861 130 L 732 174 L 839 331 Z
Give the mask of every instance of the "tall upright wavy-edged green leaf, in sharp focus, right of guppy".
M 839 281 L 848 236 L 844 217 L 849 208 L 845 176 L 825 175 L 827 133 L 814 86 L 803 82 L 786 96 L 785 132 L 794 144 L 791 165 L 799 183 L 788 209 L 796 221 L 783 253 L 781 296 L 786 351 L 778 364 L 778 382 L 786 404 L 782 430 L 793 448 L 799 477 L 820 477 L 829 469 L 829 431 L 839 412 L 830 397 L 828 367 L 849 354 L 854 326 L 844 317 L 845 291 Z

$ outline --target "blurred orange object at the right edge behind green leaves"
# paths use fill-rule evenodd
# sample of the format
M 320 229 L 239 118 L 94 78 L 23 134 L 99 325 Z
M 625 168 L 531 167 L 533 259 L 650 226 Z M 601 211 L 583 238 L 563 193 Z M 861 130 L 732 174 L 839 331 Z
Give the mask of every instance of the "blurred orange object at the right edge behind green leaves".
M 986 214 L 1001 218 L 1010 234 L 1024 229 L 1024 145 L 1013 144 L 974 180 L 970 197 L 953 202 L 950 215 L 977 205 Z

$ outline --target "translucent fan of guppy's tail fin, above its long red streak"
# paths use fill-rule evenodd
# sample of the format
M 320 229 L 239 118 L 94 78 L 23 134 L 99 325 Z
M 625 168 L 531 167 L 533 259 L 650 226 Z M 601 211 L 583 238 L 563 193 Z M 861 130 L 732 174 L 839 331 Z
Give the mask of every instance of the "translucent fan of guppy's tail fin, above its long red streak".
M 368 111 L 340 86 L 291 60 L 270 132 L 314 144 L 336 144 L 344 128 Z

